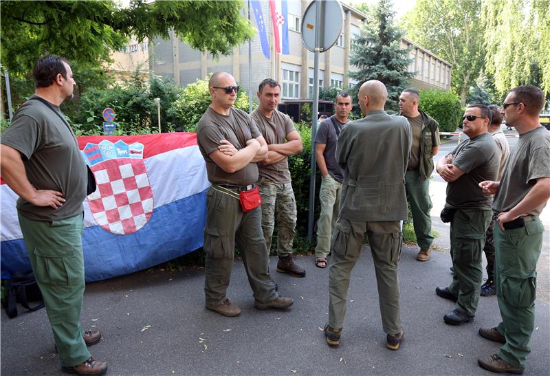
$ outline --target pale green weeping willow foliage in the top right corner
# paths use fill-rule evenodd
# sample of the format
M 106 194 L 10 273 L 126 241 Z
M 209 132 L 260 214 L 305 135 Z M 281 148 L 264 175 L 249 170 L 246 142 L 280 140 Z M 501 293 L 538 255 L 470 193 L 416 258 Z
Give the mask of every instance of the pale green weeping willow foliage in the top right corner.
M 484 0 L 481 14 L 496 89 L 531 84 L 550 93 L 550 0 Z

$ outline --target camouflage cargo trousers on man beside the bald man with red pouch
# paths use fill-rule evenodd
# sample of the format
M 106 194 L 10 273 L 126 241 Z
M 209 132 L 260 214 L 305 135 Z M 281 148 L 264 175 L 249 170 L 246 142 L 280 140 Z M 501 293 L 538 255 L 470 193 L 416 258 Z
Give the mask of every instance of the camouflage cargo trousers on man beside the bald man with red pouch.
M 267 250 L 271 250 L 275 214 L 277 215 L 277 254 L 292 254 L 292 243 L 296 234 L 296 199 L 292 184 L 277 184 L 261 177 L 258 184 L 262 197 L 262 230 Z

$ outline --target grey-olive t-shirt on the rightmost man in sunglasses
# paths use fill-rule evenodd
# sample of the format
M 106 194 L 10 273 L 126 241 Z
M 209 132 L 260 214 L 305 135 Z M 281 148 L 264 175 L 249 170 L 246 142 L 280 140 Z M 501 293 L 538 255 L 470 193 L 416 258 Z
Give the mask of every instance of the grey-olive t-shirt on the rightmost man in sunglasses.
M 500 179 L 493 210 L 507 212 L 514 208 L 540 177 L 550 177 L 550 132 L 543 126 L 520 135 Z M 540 215 L 544 206 L 546 203 L 527 214 Z

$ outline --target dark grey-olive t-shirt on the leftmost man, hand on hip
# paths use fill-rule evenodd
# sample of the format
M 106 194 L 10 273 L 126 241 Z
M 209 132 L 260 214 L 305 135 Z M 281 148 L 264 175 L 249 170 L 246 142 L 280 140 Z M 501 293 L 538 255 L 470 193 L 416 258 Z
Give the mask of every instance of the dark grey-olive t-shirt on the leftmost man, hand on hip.
M 58 106 L 52 107 L 60 114 Z M 17 200 L 17 210 L 34 221 L 59 221 L 80 214 L 86 198 L 87 170 L 72 129 L 39 100 L 28 100 L 15 114 L 1 143 L 23 156 L 27 178 L 36 189 L 57 190 L 66 200 L 60 208 Z

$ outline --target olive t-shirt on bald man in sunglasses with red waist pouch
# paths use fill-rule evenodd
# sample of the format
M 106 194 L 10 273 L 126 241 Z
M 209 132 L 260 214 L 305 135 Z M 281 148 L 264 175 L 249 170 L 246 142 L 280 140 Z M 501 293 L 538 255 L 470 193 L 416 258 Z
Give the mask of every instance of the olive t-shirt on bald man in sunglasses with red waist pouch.
M 197 143 L 206 162 L 206 174 L 213 184 L 248 186 L 258 181 L 258 166 L 249 163 L 235 173 L 226 173 L 218 166 L 210 153 L 218 150 L 221 140 L 228 140 L 237 150 L 246 147 L 246 142 L 261 136 L 254 120 L 240 109 L 231 107 L 229 115 L 222 115 L 208 107 L 197 124 Z

